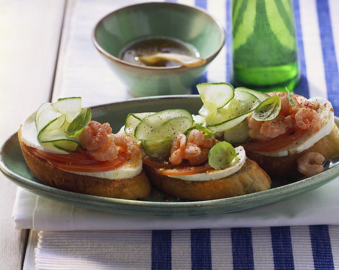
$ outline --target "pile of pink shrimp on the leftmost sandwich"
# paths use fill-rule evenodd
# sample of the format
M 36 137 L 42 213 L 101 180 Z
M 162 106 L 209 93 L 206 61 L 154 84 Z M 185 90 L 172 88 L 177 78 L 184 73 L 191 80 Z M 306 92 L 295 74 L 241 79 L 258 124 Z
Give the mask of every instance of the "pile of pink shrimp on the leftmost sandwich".
M 81 132 L 79 140 L 87 154 L 99 161 L 114 161 L 122 152 L 125 152 L 129 159 L 140 155 L 140 148 L 135 140 L 124 133 L 113 134 L 108 123 L 89 122 Z

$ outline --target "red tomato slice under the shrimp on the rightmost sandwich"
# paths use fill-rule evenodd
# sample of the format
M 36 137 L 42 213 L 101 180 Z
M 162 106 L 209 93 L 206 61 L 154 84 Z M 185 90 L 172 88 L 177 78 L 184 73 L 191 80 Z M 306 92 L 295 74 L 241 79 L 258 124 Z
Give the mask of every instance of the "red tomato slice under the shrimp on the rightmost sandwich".
M 260 152 L 270 152 L 284 148 L 297 139 L 299 139 L 306 130 L 301 128 L 291 128 L 288 129 L 285 134 L 279 135 L 276 138 L 273 138 L 266 142 L 252 141 L 242 145 L 246 151 L 260 151 Z

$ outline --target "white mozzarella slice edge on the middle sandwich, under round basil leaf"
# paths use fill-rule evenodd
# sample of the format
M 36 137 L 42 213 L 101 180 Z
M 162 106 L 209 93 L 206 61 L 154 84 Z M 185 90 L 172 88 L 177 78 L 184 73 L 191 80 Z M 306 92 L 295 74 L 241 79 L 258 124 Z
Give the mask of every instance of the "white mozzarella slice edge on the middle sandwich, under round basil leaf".
M 208 181 L 214 179 L 221 179 L 231 174 L 238 172 L 246 162 L 246 153 L 242 146 L 234 148 L 239 153 L 237 157 L 228 165 L 227 168 L 222 170 L 208 170 L 205 173 L 185 175 L 185 176 L 169 176 L 179 178 L 186 181 Z

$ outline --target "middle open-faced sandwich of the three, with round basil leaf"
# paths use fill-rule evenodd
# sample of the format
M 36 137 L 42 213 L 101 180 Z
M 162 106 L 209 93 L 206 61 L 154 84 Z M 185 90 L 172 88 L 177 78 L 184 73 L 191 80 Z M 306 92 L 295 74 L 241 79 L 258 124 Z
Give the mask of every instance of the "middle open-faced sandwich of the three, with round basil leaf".
M 148 178 L 167 194 L 212 200 L 268 190 L 270 177 L 243 147 L 217 141 L 204 123 L 183 109 L 133 113 L 124 131 L 140 142 Z

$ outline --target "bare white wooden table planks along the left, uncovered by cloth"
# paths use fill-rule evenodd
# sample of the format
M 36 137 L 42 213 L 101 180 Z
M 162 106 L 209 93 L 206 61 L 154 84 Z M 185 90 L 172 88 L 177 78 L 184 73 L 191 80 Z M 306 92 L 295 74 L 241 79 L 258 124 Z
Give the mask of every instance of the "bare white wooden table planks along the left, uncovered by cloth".
M 65 9 L 64 0 L 0 2 L 1 142 L 51 100 Z M 14 229 L 11 218 L 16 190 L 0 176 L 0 268 L 35 269 L 37 232 Z

